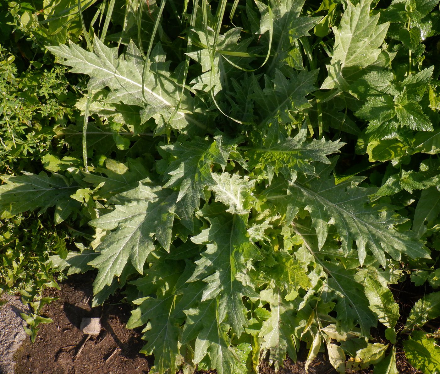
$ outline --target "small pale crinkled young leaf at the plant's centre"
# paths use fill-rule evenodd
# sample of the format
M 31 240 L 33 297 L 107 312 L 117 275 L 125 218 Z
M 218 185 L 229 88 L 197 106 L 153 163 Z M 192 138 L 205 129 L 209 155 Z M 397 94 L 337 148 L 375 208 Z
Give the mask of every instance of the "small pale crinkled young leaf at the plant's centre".
M 246 214 L 251 208 L 251 201 L 255 200 L 252 191 L 256 181 L 249 181 L 249 177 L 238 174 L 212 173 L 214 185 L 208 187 L 214 192 L 216 201 L 229 207 L 226 211 L 231 214 Z

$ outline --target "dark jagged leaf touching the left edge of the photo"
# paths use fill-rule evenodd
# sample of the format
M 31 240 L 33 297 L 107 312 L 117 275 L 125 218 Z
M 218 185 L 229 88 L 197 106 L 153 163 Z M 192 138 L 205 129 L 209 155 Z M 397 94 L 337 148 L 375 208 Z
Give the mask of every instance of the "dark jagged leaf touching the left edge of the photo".
M 18 213 L 34 211 L 38 208 L 40 208 L 39 214 L 43 214 L 48 207 L 73 201 L 70 195 L 78 186 L 70 185 L 66 178 L 58 174 L 49 176 L 44 171 L 40 174 L 27 171 L 22 173 L 23 175 L 15 177 L 11 175 L 1 177 L 5 182 L 4 185 L 0 185 L 1 218 L 11 218 Z

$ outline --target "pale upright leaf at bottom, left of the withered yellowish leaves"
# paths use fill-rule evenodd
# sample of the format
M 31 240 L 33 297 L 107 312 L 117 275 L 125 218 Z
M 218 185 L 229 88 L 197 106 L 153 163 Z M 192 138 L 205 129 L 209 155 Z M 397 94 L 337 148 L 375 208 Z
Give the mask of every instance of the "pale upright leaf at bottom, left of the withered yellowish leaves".
M 260 298 L 269 303 L 271 314 L 263 322 L 259 336 L 262 338 L 260 349 L 263 352 L 270 350 L 270 359 L 274 360 L 275 371 L 283 367 L 286 352 L 295 360 L 297 356 L 297 338 L 293 335 L 291 326 L 297 325 L 294 317 L 294 305 L 285 301 L 279 287 L 261 291 Z

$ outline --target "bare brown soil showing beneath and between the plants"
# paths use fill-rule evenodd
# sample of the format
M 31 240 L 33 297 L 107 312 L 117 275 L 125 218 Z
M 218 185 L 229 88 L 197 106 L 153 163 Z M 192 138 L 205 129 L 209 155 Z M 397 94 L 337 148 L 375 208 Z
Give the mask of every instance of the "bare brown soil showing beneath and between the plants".
M 140 330 L 128 330 L 125 323 L 130 316 L 127 304 L 107 304 L 91 308 L 92 280 L 88 274 L 71 276 L 61 284 L 61 290 L 47 290 L 58 297 L 47 307 L 45 316 L 54 323 L 44 324 L 35 343 L 29 339 L 15 354 L 15 374 L 137 374 L 148 373 L 151 357 L 139 353 L 143 346 Z M 100 317 L 102 330 L 97 336 L 83 334 L 79 329 L 83 317 Z M 377 331 L 380 340 L 381 331 Z M 304 363 L 308 349 L 304 345 L 298 352 L 297 362 L 284 361 L 279 374 L 305 374 Z M 397 367 L 400 373 L 421 373 L 407 362 L 402 347 L 397 345 Z M 323 353 L 309 367 L 310 374 L 337 374 Z M 216 373 L 215 370 L 198 373 Z M 275 374 L 267 360 L 260 364 L 260 373 Z M 355 373 L 355 372 L 347 372 Z M 371 374 L 373 369 L 357 371 Z M 9 374 L 9 373 L 6 373 Z

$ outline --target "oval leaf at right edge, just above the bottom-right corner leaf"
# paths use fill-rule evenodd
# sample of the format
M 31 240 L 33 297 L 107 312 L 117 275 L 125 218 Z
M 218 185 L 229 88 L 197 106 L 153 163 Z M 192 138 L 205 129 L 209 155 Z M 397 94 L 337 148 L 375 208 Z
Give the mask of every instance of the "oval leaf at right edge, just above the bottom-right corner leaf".
M 405 330 L 422 327 L 426 322 L 440 316 L 440 292 L 427 294 L 418 300 L 407 318 Z

